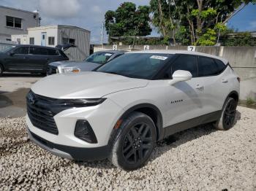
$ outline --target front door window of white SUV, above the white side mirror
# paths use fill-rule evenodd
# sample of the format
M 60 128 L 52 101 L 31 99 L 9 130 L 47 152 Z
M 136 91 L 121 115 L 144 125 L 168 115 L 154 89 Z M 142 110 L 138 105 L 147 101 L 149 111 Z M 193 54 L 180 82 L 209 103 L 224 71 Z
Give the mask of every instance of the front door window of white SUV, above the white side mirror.
M 172 65 L 172 75 L 176 70 L 187 70 L 192 77 L 197 77 L 197 58 L 194 55 L 179 56 Z

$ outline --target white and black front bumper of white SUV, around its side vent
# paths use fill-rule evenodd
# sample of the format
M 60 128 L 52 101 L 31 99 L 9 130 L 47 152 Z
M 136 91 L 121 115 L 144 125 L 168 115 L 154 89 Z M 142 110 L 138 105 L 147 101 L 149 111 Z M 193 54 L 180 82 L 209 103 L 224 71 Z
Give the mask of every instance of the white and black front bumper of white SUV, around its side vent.
M 111 111 L 111 112 L 110 112 Z M 74 160 L 101 160 L 108 157 L 110 134 L 123 110 L 110 99 L 97 106 L 67 109 L 53 118 L 59 133 L 37 128 L 26 115 L 29 136 L 42 149 L 53 155 Z M 97 143 L 91 144 L 75 136 L 78 120 L 86 120 L 94 130 Z

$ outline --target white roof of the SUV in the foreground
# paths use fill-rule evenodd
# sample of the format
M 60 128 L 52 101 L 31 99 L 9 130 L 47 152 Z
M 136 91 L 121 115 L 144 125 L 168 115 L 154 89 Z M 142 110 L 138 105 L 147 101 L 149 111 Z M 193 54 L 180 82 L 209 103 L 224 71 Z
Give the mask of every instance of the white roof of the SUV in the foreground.
M 219 56 L 216 55 L 210 55 L 210 54 L 206 54 L 206 53 L 202 53 L 202 52 L 193 52 L 193 51 L 187 51 L 187 50 L 141 50 L 141 51 L 134 51 L 134 52 L 125 52 L 126 54 L 130 54 L 130 53 L 148 53 L 148 54 L 186 54 L 186 55 L 202 55 L 202 56 L 206 56 L 208 58 L 215 58 L 218 59 L 220 61 L 222 61 L 223 63 L 227 64 L 228 61 L 225 58 L 221 58 Z

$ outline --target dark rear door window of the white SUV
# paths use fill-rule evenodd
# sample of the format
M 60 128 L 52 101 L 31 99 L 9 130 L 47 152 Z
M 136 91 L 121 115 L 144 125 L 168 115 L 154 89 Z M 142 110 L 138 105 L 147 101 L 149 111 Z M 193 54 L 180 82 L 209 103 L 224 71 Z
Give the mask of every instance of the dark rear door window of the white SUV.
M 217 63 L 214 59 L 199 56 L 198 74 L 200 77 L 214 76 L 219 74 Z

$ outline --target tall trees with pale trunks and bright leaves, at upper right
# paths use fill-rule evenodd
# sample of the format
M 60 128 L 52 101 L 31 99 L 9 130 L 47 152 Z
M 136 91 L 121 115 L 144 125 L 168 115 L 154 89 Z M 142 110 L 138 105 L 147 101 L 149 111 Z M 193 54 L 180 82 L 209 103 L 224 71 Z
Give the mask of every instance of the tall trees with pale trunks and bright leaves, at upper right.
M 189 36 L 190 44 L 212 45 L 227 30 L 225 23 L 249 3 L 256 0 L 151 0 L 150 5 L 153 24 L 162 36 L 175 33 L 173 39 Z

